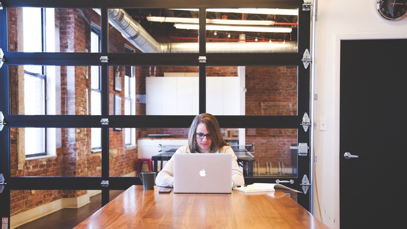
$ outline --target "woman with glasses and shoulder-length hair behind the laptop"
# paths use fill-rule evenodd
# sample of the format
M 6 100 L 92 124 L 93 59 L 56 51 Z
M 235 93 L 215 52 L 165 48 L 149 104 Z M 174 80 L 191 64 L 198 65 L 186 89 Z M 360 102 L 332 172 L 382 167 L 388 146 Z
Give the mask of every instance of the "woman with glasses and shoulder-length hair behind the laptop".
M 188 146 L 180 147 L 179 153 L 220 153 L 232 155 L 232 177 L 231 187 L 244 185 L 245 181 L 238 165 L 238 158 L 232 148 L 223 140 L 218 120 L 210 113 L 197 115 L 192 121 L 188 132 Z M 173 187 L 173 165 L 172 158 L 158 173 L 156 185 Z

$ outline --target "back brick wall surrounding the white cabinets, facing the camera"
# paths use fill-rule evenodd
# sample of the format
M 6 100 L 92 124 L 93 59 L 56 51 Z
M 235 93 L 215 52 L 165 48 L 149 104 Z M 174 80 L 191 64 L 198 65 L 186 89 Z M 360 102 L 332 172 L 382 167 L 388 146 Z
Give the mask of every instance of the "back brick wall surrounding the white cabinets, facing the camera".
M 156 76 L 164 72 L 197 72 L 198 67 L 155 66 Z M 142 74 L 150 75 L 150 67 L 143 67 Z M 237 76 L 236 66 L 209 66 L 208 76 Z M 145 78 L 145 77 L 143 77 Z M 247 66 L 246 67 L 246 115 L 296 115 L 297 114 L 297 67 Z M 141 129 L 140 129 L 141 130 Z M 187 129 L 149 128 L 147 134 L 168 134 L 188 137 Z M 297 131 L 292 129 L 246 129 L 246 145 L 254 143 L 256 165 L 266 168 L 285 168 L 292 164 L 292 144 L 297 144 Z M 267 164 L 266 164 L 267 163 Z

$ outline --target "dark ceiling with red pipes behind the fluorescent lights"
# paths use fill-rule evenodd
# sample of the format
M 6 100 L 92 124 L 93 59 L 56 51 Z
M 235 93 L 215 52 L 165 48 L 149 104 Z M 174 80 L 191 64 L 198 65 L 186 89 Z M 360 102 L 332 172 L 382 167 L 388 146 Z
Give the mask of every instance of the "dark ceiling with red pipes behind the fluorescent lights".
M 177 29 L 171 22 L 152 22 L 153 17 L 171 18 L 198 18 L 198 11 L 175 10 L 175 9 L 125 9 L 132 19 L 154 37 L 158 42 L 197 42 L 197 30 Z M 290 27 L 291 33 L 266 33 L 266 32 L 240 32 L 240 31 L 207 31 L 207 42 L 238 42 L 241 34 L 244 34 L 246 42 L 255 41 L 297 41 L 298 15 L 279 14 L 252 14 L 233 12 L 207 12 L 207 19 L 244 20 L 244 21 L 274 21 L 279 25 L 274 27 Z M 270 27 L 270 26 L 269 26 Z M 216 33 L 215 33 L 216 32 Z

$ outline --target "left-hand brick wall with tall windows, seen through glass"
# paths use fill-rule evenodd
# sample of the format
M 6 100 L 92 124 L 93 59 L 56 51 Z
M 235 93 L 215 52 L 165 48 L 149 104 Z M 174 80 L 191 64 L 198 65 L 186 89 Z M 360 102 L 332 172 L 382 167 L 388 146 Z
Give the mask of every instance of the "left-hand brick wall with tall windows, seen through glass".
M 9 9 L 10 49 L 21 50 L 22 25 L 21 9 Z M 91 20 L 90 20 L 91 19 Z M 61 52 L 85 52 L 90 50 L 91 24 L 100 25 L 100 16 L 92 9 L 57 9 L 55 24 L 60 29 Z M 62 22 L 62 23 L 60 23 Z M 123 51 L 129 43 L 117 31 L 110 30 L 109 47 Z M 74 42 L 73 42 L 74 41 Z M 129 45 L 130 46 L 130 45 Z M 86 79 L 87 66 L 61 66 L 61 115 L 86 115 L 86 89 L 91 91 L 91 77 Z M 112 69 L 112 68 L 111 68 Z M 24 113 L 23 73 L 21 67 L 11 66 L 10 88 L 11 113 Z M 90 74 L 90 73 L 89 73 Z M 124 74 L 124 72 L 123 72 Z M 122 75 L 123 75 L 122 74 Z M 145 81 L 145 80 L 144 80 Z M 122 92 L 113 91 L 113 72 L 109 71 L 110 109 L 113 109 L 113 94 L 124 98 Z M 124 86 L 124 82 L 123 86 Z M 74 85 L 74 87 L 72 87 Z M 20 87 L 20 88 L 19 88 Z M 22 87 L 22 88 L 21 88 Z M 145 89 L 144 92 L 145 94 Z M 89 93 L 91 94 L 91 93 Z M 90 96 L 90 95 L 89 95 Z M 91 98 L 88 98 L 91 101 Z M 124 103 L 122 104 L 124 110 Z M 72 113 L 73 112 L 73 113 Z M 13 177 L 96 177 L 101 176 L 101 153 L 91 151 L 90 128 L 62 128 L 60 140 L 57 140 L 56 157 L 46 159 L 24 159 L 24 130 L 10 129 L 11 147 L 10 164 Z M 124 147 L 124 131 L 110 133 L 110 176 L 123 176 L 135 170 L 137 149 Z M 22 159 L 21 159 L 22 156 Z M 11 214 L 20 213 L 60 198 L 78 197 L 86 194 L 85 190 L 16 190 L 11 192 Z

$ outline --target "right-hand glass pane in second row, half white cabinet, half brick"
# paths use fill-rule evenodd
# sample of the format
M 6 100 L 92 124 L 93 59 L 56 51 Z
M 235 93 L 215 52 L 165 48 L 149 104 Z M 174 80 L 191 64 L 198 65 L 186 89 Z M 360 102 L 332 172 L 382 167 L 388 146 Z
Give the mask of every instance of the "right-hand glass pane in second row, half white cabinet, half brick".
M 207 112 L 295 116 L 297 75 L 292 66 L 208 66 Z

